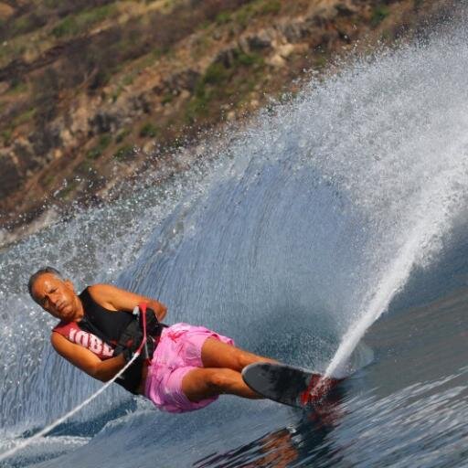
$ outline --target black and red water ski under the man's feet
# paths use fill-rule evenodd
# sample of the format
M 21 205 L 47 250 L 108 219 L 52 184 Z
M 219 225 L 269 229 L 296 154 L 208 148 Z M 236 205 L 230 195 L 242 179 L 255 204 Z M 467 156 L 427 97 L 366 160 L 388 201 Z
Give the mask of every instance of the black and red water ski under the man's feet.
M 322 399 L 340 381 L 322 378 L 320 374 L 300 367 L 267 362 L 244 367 L 242 378 L 263 397 L 295 408 L 303 408 Z

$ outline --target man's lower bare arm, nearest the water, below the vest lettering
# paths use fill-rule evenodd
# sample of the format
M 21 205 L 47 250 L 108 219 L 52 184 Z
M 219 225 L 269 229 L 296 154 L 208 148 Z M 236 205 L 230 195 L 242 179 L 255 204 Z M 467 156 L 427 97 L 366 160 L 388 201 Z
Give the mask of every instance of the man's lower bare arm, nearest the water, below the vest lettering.
M 80 368 L 90 377 L 102 382 L 111 380 L 125 366 L 122 354 L 101 361 L 89 349 L 71 343 L 65 336 L 58 333 L 52 333 L 50 342 L 60 356 L 65 357 L 73 366 Z

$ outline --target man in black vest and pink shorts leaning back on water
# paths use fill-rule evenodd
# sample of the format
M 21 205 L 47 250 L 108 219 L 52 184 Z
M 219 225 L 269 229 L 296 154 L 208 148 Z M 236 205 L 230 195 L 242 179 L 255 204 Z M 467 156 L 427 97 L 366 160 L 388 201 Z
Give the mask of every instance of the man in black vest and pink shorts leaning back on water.
M 77 294 L 72 282 L 46 267 L 28 282 L 33 300 L 60 322 L 50 341 L 58 354 L 93 378 L 108 381 L 140 346 L 141 321 L 133 310 L 146 304 L 148 356 L 139 356 L 116 382 L 169 412 L 198 410 L 220 394 L 261 398 L 242 380 L 242 369 L 274 362 L 234 346 L 227 336 L 203 326 L 166 326 L 163 303 L 111 284 L 94 284 Z

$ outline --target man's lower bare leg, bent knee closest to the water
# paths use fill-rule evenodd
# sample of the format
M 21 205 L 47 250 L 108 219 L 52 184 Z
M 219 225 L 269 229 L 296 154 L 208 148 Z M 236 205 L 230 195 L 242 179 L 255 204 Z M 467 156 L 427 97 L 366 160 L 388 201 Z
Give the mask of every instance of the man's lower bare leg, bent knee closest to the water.
M 239 372 L 229 368 L 200 367 L 186 373 L 182 391 L 190 401 L 200 401 L 225 393 L 245 399 L 261 399 L 242 380 Z

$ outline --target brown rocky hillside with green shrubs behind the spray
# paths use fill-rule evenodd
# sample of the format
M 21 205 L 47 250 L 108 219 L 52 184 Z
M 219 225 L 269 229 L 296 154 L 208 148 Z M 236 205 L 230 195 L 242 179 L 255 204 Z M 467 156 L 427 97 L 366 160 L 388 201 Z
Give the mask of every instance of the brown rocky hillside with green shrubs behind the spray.
M 444 0 L 0 0 L 0 225 L 96 203 Z

